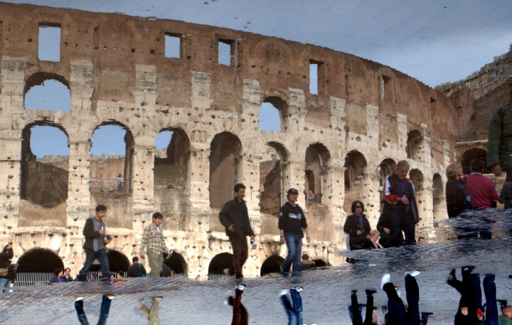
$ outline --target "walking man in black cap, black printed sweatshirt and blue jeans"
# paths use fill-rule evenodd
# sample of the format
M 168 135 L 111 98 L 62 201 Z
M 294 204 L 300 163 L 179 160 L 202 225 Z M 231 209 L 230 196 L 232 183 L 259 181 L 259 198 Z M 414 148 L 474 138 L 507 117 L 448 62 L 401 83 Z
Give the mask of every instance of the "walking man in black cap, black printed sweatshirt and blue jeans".
M 284 203 L 279 211 L 279 233 L 281 235 L 280 244 L 283 245 L 286 241 L 288 248 L 288 255 L 282 265 L 282 273 L 287 275 L 293 263 L 293 273 L 298 274 L 302 271 L 302 238 L 306 232 L 306 240 L 309 243 L 309 231 L 307 229 L 306 215 L 302 208 L 297 204 L 297 197 L 299 191 L 297 188 L 290 188 L 287 192 L 288 202 Z

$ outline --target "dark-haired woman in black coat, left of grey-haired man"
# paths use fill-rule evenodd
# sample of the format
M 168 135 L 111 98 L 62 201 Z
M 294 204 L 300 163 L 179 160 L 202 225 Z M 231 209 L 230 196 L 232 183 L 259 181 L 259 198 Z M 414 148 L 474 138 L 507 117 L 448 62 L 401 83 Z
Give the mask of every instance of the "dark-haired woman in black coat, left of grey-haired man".
M 361 201 L 353 201 L 352 214 L 348 215 L 343 231 L 350 236 L 349 243 L 351 250 L 363 249 L 366 238 L 370 240 L 370 223 L 363 214 L 364 205 Z

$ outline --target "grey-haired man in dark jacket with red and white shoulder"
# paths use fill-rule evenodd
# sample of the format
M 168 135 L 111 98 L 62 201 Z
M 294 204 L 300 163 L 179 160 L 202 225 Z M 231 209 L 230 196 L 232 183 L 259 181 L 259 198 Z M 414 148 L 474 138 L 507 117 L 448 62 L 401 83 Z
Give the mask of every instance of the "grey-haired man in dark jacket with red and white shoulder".
M 405 233 L 405 244 L 416 245 L 415 225 L 419 218 L 414 185 L 410 179 L 405 178 L 408 172 L 409 163 L 400 160 L 396 173 L 386 177 L 384 198 L 391 203 L 388 247 L 402 245 L 402 230 Z

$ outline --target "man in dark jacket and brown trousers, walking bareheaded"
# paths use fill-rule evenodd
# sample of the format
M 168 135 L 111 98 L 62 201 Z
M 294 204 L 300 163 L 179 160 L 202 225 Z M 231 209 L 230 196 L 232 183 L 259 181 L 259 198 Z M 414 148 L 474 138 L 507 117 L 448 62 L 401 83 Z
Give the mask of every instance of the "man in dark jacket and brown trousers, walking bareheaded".
M 243 198 L 245 197 L 245 185 L 238 183 L 235 185 L 235 198 L 225 203 L 219 213 L 220 223 L 222 223 L 228 235 L 231 247 L 233 247 L 233 266 L 225 270 L 229 275 L 243 277 L 242 267 L 247 260 L 247 235 L 251 240 L 255 239 L 252 231 L 249 213 Z

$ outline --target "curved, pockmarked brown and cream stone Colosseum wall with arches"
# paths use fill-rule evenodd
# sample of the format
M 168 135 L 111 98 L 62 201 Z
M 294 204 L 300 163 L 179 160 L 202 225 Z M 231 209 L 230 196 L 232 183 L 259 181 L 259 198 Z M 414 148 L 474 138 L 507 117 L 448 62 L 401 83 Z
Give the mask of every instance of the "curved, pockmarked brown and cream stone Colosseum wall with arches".
M 363 201 L 371 225 L 377 223 L 378 166 L 385 159 L 409 161 L 421 181 L 420 227 L 433 223 L 434 174 L 444 184 L 457 111 L 442 92 L 397 70 L 328 48 L 181 21 L 5 3 L 0 21 L 0 241 L 14 243 L 15 259 L 47 248 L 78 272 L 83 224 L 105 203 L 111 250 L 131 259 L 144 225 L 163 211 L 167 245 L 183 256 L 189 277 L 204 279 L 213 257 L 231 251 L 218 211 L 243 182 L 259 243 L 245 275 L 259 275 L 267 257 L 286 254 L 277 244 L 274 207 L 290 187 L 304 193 L 314 186 L 319 197 L 306 205 L 299 196 L 313 229 L 304 252 L 338 265 L 350 201 Z M 40 24 L 60 26 L 60 62 L 38 60 Z M 180 58 L 165 57 L 166 34 L 181 36 Z M 230 65 L 218 63 L 219 42 L 232 46 Z M 311 63 L 319 65 L 318 95 L 309 92 Z M 48 78 L 70 88 L 70 112 L 25 109 L 26 91 Z M 258 128 L 262 102 L 279 110 L 281 132 Z M 112 169 L 122 169 L 129 191 L 91 194 L 91 137 L 108 124 L 127 130 L 124 165 Z M 70 147 L 68 196 L 54 208 L 65 213 L 48 224 L 37 207 L 21 202 L 30 177 L 22 168 L 30 141 L 23 134 L 36 125 L 60 128 Z M 178 135 L 165 156 L 156 155 L 156 134 L 168 130 Z M 267 203 L 262 181 L 281 192 Z M 436 197 L 437 205 L 443 200 Z

